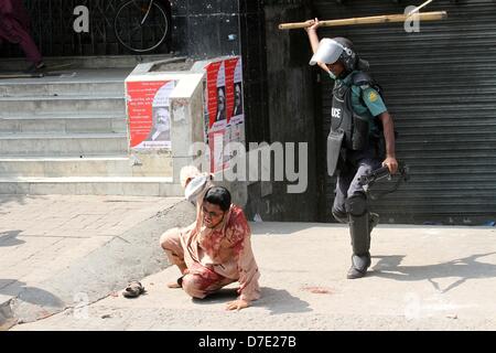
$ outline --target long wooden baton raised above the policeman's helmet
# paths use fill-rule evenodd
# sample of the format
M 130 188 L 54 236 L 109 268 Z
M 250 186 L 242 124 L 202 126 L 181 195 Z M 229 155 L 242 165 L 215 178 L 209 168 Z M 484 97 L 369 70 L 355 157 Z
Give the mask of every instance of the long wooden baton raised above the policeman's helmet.
M 393 23 L 393 22 L 405 22 L 409 19 L 419 21 L 438 21 L 448 18 L 446 11 L 434 11 L 434 12 L 423 12 L 423 13 L 412 13 L 408 14 L 385 14 L 385 15 L 373 15 L 367 18 L 354 18 L 354 19 L 342 19 L 342 20 L 328 20 L 320 21 L 320 26 L 339 26 L 339 25 L 356 25 L 356 24 L 374 24 L 374 23 Z M 293 23 L 281 23 L 279 24 L 280 30 L 295 30 L 304 29 L 311 26 L 306 22 L 293 22 Z

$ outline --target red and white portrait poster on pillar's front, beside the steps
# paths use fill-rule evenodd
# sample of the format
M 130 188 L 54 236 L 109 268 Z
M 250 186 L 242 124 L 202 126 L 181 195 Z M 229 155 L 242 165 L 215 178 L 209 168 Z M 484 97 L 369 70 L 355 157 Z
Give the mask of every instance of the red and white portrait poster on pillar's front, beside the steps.
M 132 149 L 171 149 L 170 96 L 174 86 L 174 81 L 126 83 Z

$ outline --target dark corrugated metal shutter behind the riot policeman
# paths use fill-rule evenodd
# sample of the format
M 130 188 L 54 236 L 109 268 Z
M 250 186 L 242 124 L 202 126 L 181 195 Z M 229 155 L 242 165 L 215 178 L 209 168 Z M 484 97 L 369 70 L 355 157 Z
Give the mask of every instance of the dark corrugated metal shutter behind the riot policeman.
M 422 1 L 314 1 L 320 19 L 403 13 Z M 382 223 L 485 224 L 496 221 L 496 1 L 435 1 L 424 11 L 446 10 L 449 19 L 322 28 L 320 36 L 347 36 L 385 90 L 399 138 L 397 157 L 410 181 L 371 202 Z M 323 129 L 330 129 L 333 82 L 323 78 Z M 325 173 L 322 170 L 321 173 Z M 327 210 L 334 178 L 325 178 Z M 390 186 L 380 183 L 378 190 Z M 326 220 L 331 221 L 327 212 Z

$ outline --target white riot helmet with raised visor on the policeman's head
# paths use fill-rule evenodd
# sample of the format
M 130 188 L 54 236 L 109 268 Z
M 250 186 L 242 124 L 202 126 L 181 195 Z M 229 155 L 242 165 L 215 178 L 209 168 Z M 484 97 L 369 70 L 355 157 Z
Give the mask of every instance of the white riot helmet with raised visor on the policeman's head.
M 316 63 L 334 64 L 341 61 L 347 72 L 356 68 L 358 55 L 353 49 L 352 41 L 345 38 L 324 38 L 320 43 L 317 51 L 310 60 L 310 65 Z

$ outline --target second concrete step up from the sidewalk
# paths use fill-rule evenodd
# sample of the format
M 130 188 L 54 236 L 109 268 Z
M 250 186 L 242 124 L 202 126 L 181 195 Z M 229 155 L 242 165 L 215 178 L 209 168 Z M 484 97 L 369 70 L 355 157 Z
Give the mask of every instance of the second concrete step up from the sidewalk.
M 148 157 L 148 158 L 147 158 Z M 171 176 L 170 156 L 9 157 L 0 158 L 0 176 Z

